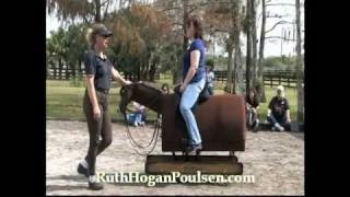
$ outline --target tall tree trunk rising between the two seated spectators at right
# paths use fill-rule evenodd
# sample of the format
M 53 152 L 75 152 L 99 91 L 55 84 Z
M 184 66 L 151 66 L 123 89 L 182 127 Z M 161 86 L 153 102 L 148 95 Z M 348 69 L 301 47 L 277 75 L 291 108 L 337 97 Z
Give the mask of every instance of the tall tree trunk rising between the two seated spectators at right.
M 257 84 L 259 86 L 258 89 L 258 97 L 259 101 L 265 103 L 266 96 L 265 96 L 265 85 L 264 85 L 264 47 L 265 47 L 265 26 L 266 26 L 266 7 L 265 7 L 265 0 L 261 1 L 262 12 L 261 12 L 261 33 L 260 33 L 260 45 L 259 45 L 259 60 L 258 60 L 258 73 L 257 73 Z

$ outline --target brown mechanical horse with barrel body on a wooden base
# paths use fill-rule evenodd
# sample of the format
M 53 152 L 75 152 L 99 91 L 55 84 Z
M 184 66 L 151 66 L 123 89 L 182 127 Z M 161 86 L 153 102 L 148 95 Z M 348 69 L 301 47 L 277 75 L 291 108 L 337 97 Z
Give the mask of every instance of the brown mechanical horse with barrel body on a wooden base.
M 245 101 L 243 96 L 223 94 L 210 96 L 207 101 L 196 104 L 192 112 L 202 138 L 202 149 L 196 155 L 185 151 L 187 129 L 178 111 L 178 93 L 170 94 L 152 85 L 138 82 L 120 89 L 120 112 L 126 116 L 126 106 L 136 101 L 159 114 L 153 146 L 156 143 L 161 129 L 162 151 L 172 154 L 147 154 L 144 171 L 147 174 L 243 174 L 243 164 L 238 162 L 235 151 L 245 151 Z M 153 137 L 154 137 L 153 135 Z M 130 142 L 139 149 L 128 132 Z M 150 142 L 150 143 L 151 143 Z M 222 151 L 226 155 L 201 155 L 201 152 Z M 178 153 L 179 152 L 179 153 Z

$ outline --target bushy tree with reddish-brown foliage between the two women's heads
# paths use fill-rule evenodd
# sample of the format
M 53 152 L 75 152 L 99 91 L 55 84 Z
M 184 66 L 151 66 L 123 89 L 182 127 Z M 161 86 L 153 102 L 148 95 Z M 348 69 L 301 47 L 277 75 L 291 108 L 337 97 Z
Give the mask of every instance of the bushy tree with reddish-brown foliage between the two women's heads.
M 168 19 L 150 5 L 135 3 L 106 24 L 117 32 L 109 55 L 118 69 L 136 74 L 137 80 L 153 81 L 171 34 Z

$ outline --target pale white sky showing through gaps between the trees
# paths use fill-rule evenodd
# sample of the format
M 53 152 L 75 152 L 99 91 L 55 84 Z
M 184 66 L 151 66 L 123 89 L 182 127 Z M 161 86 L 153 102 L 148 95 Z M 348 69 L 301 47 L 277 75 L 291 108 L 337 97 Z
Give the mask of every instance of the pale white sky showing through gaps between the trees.
M 270 2 L 268 2 L 269 4 L 275 4 L 275 3 L 294 3 L 294 0 L 271 0 Z M 301 0 L 301 3 L 303 3 L 304 0 Z M 283 15 L 284 21 L 288 22 L 294 22 L 295 20 L 295 7 L 291 7 L 291 5 L 269 5 L 266 8 L 266 12 L 269 15 Z M 55 16 L 56 14 L 48 14 L 46 12 L 46 37 L 49 37 L 49 32 L 50 31 L 55 31 L 59 27 L 60 23 L 58 22 L 58 20 Z M 260 26 L 261 26 L 261 3 L 259 3 L 258 8 L 257 8 L 257 38 L 259 39 L 259 35 L 260 35 Z M 281 19 L 273 19 L 273 18 L 268 18 L 266 20 L 266 30 L 270 30 L 278 21 L 280 21 Z M 301 9 L 301 22 L 302 22 L 302 40 L 304 37 L 303 31 L 304 31 L 304 9 Z M 277 25 L 276 28 L 273 28 L 273 31 L 269 32 L 266 34 L 266 36 L 281 36 L 282 31 L 287 32 L 287 34 L 290 34 L 290 38 L 292 38 L 293 35 L 293 30 L 296 32 L 295 25 L 293 26 L 292 24 L 280 24 Z M 296 38 L 296 35 L 295 35 Z M 241 42 L 242 42 L 242 51 L 243 55 L 245 55 L 245 37 L 242 36 L 241 37 Z M 265 57 L 269 57 L 269 56 L 293 56 L 295 55 L 295 42 L 283 42 L 281 39 L 266 39 L 265 42 Z M 209 49 L 209 53 L 214 53 L 215 55 L 221 55 L 226 57 L 228 53 L 224 51 L 224 48 L 222 46 L 215 45 L 214 47 L 214 51 Z

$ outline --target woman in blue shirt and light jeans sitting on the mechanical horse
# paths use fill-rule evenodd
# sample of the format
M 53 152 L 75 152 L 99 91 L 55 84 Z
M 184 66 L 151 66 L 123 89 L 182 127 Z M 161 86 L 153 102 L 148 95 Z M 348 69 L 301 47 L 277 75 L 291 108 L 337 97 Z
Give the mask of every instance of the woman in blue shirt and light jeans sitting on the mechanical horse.
M 202 149 L 202 143 L 191 107 L 206 84 L 206 45 L 202 40 L 202 25 L 198 16 L 190 16 L 186 21 L 186 36 L 191 40 L 191 44 L 183 60 L 179 111 L 185 119 L 189 136 L 186 152 L 192 154 Z

